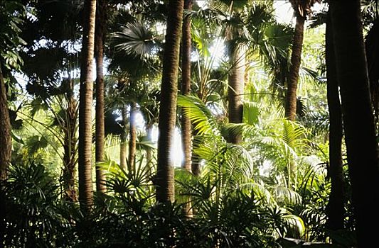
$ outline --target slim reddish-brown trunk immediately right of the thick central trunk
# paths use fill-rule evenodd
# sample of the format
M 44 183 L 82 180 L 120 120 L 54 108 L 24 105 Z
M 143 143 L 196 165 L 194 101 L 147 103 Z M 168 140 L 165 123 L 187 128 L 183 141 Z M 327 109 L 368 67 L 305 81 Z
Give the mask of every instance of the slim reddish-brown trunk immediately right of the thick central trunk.
M 191 10 L 192 0 L 184 1 L 184 9 Z M 183 34 L 181 41 L 181 94 L 191 93 L 191 18 L 183 20 Z M 183 146 L 183 168 L 191 171 L 191 120 L 181 111 L 181 140 Z

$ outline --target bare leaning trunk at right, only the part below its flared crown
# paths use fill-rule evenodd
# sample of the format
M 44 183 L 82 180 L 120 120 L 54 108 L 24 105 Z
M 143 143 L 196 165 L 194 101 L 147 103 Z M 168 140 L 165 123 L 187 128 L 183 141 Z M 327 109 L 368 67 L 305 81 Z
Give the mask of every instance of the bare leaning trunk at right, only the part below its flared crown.
M 284 116 L 289 120 L 296 118 L 297 103 L 297 83 L 299 81 L 299 70 L 301 64 L 301 51 L 303 49 L 304 39 L 304 16 L 297 16 L 294 33 L 294 41 L 292 45 L 291 66 L 289 67 L 287 94 Z

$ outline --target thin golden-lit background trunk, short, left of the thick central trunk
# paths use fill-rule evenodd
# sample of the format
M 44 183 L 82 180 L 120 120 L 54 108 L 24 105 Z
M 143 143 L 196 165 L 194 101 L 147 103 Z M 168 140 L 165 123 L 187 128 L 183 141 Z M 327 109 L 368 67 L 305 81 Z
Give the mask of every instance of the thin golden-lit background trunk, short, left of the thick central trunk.
M 136 158 L 136 141 L 137 141 L 137 130 L 136 130 L 136 113 L 137 104 L 132 103 L 130 105 L 130 117 L 129 117 L 129 171 L 134 171 L 135 169 L 135 158 Z

